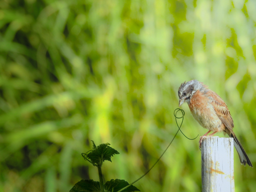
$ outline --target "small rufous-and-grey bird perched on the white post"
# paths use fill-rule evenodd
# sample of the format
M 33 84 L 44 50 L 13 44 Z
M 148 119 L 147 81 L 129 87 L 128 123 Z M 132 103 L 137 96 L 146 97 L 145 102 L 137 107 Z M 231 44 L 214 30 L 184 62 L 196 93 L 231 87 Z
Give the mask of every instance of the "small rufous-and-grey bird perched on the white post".
M 234 139 L 234 147 L 238 152 L 241 164 L 244 166 L 248 164 L 252 167 L 248 155 L 234 134 L 234 122 L 230 111 L 217 93 L 210 90 L 204 83 L 191 80 L 180 85 L 178 96 L 179 107 L 186 102 L 194 119 L 209 130 L 200 137 L 199 147 L 201 147 L 203 138 L 213 136 L 217 132 L 224 132 Z M 213 133 L 209 134 L 211 131 Z

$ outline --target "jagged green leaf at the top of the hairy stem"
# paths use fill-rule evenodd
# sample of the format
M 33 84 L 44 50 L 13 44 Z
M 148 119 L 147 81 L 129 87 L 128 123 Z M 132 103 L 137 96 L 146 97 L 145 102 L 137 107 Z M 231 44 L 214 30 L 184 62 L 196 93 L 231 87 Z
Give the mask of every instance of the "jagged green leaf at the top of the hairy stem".
M 100 144 L 95 150 L 87 154 L 87 158 L 89 158 L 93 164 L 97 165 L 101 165 L 105 160 L 112 162 L 111 156 L 119 154 L 119 152 L 108 146 L 108 144 Z

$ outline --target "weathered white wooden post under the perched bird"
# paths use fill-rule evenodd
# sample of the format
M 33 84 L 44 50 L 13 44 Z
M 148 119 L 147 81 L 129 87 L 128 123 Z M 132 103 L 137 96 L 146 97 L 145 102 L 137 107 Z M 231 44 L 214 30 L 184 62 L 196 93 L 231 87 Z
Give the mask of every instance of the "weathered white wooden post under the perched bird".
M 233 138 L 206 137 L 201 145 L 202 192 L 234 192 Z

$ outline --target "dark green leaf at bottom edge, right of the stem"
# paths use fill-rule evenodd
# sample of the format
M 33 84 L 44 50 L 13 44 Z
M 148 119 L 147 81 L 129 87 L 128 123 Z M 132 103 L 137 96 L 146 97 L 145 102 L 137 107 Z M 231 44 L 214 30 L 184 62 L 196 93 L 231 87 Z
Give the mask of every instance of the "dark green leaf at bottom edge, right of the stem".
M 107 181 L 105 183 L 105 189 L 108 191 L 112 191 L 116 192 L 119 191 L 120 189 L 126 187 L 127 185 L 129 185 L 129 183 L 125 180 L 120 180 L 120 179 L 111 179 L 110 181 Z M 137 187 L 131 185 L 129 187 L 127 187 L 126 189 L 124 189 L 122 192 L 131 192 L 131 191 L 140 191 Z

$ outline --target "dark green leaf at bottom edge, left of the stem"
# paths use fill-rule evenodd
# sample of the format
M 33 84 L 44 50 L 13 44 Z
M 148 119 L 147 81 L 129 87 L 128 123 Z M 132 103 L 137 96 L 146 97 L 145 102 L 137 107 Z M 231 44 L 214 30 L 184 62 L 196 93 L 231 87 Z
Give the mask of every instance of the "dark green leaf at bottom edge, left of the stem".
M 100 192 L 100 182 L 90 180 L 81 180 L 77 182 L 69 192 Z

